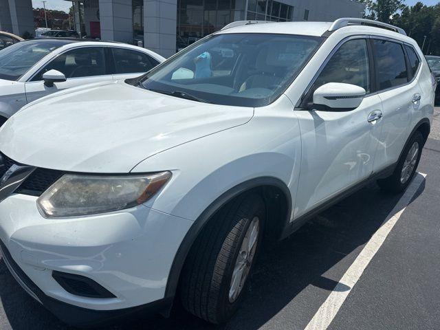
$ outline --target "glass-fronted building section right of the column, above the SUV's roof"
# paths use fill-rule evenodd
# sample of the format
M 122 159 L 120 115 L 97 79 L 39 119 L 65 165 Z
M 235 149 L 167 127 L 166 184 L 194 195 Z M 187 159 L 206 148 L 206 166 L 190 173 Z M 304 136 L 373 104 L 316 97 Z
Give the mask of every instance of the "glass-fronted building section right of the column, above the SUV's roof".
M 334 21 L 363 12 L 351 0 L 177 0 L 177 36 L 189 45 L 232 21 Z

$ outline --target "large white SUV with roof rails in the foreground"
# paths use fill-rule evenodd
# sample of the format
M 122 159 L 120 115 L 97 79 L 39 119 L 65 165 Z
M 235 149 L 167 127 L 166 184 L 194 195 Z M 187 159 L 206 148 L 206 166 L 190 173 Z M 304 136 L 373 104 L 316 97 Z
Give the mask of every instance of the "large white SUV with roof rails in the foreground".
M 75 87 L 0 131 L 0 240 L 65 322 L 228 320 L 263 241 L 378 180 L 408 186 L 435 80 L 391 25 L 238 22 L 141 78 Z

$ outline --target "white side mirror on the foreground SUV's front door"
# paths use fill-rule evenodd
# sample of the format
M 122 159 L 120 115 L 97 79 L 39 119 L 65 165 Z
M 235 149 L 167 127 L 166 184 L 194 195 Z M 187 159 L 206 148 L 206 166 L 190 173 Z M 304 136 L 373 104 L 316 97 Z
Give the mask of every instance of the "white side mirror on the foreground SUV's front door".
M 323 111 L 351 111 L 360 106 L 365 94 L 365 89 L 356 85 L 328 83 L 314 92 L 314 105 Z

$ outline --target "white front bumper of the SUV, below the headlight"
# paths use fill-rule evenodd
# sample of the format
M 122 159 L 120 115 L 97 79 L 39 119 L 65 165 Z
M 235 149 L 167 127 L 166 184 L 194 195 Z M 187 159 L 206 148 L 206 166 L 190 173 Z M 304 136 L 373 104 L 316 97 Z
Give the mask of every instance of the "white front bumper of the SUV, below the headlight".
M 0 203 L 0 241 L 8 268 L 31 296 L 76 325 L 164 308 L 170 267 L 190 225 L 145 206 L 46 219 L 36 197 L 17 194 Z M 113 297 L 71 294 L 53 271 L 90 278 Z

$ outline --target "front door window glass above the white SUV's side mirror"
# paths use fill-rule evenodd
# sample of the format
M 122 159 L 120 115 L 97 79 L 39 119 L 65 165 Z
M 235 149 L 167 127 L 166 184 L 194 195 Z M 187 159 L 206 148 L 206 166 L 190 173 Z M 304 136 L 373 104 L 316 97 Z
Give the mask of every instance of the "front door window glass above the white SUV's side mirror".
M 346 83 L 370 92 L 369 53 L 364 39 L 344 43 L 316 79 L 312 91 L 327 83 Z

